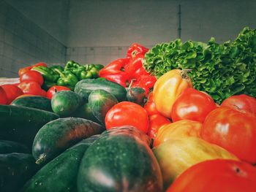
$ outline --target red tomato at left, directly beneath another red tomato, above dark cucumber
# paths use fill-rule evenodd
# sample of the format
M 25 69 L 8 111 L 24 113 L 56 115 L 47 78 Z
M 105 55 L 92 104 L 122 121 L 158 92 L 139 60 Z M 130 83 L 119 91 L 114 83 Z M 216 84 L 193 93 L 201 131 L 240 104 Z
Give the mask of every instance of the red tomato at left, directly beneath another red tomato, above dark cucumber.
M 18 87 L 21 88 L 21 90 L 25 94 L 31 94 L 31 95 L 35 95 L 35 96 L 43 96 L 42 94 L 45 94 L 42 92 L 42 88 L 39 85 L 39 83 L 35 82 L 35 81 L 20 82 Z

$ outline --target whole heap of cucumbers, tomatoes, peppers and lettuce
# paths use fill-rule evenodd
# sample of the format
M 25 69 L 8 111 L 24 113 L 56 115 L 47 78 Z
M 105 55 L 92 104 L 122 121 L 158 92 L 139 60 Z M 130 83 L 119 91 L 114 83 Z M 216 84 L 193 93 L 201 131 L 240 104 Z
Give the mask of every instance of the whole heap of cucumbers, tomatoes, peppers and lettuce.
M 0 191 L 255 191 L 255 40 L 20 69 L 0 86 Z

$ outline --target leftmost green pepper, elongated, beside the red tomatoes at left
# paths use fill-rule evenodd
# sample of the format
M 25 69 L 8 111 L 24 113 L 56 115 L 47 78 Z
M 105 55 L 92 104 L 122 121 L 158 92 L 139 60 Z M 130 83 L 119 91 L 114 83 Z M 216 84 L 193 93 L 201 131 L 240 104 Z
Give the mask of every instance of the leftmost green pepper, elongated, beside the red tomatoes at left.
M 59 74 L 54 72 L 47 66 L 34 66 L 31 70 L 39 72 L 44 77 L 44 80 L 48 82 L 57 82 L 59 79 Z

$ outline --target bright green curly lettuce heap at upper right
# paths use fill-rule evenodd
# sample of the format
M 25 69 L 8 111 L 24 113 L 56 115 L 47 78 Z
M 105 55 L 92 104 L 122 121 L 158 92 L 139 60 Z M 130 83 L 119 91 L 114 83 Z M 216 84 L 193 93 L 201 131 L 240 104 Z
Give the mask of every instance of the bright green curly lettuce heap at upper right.
M 145 55 L 146 71 L 160 77 L 171 69 L 188 73 L 197 90 L 206 91 L 220 104 L 229 96 L 256 96 L 256 30 L 244 28 L 233 42 L 218 44 L 176 39 L 151 48 Z

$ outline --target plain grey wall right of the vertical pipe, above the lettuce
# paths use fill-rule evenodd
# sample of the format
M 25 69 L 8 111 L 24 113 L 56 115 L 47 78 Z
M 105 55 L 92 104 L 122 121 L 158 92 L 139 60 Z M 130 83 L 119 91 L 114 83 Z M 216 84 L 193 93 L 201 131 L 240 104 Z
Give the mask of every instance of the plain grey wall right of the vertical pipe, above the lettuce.
M 182 0 L 181 39 L 235 39 L 244 26 L 256 28 L 255 0 Z

